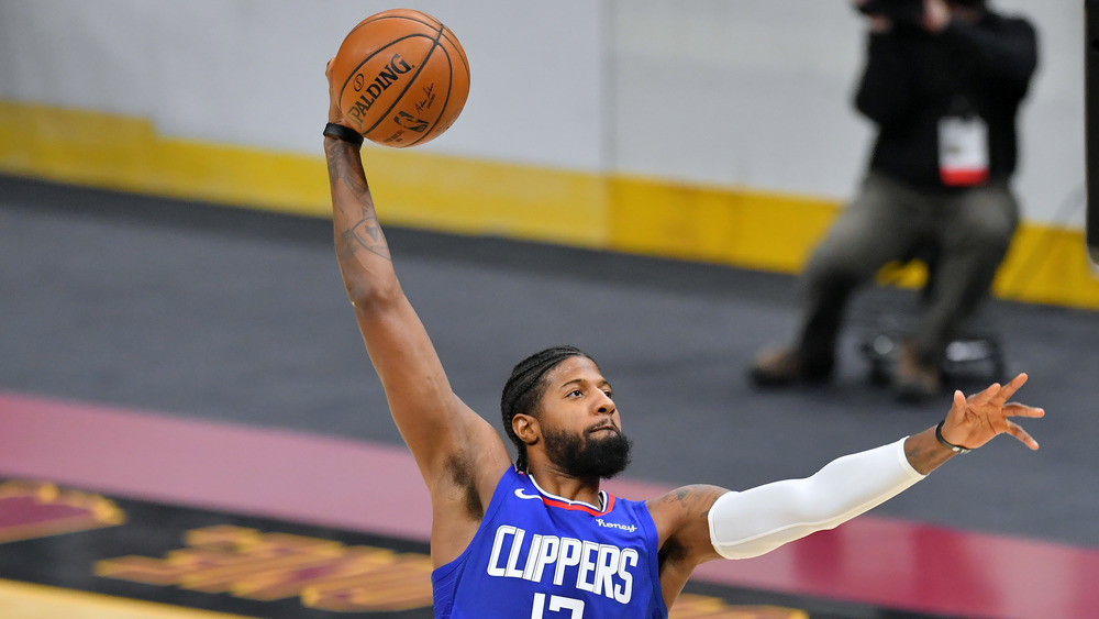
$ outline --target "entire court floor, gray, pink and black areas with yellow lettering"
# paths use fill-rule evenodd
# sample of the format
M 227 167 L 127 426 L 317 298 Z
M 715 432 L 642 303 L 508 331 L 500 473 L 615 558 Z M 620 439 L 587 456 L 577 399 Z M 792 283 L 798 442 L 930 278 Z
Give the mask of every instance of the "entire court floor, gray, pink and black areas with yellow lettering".
M 385 205 L 379 200 L 385 217 Z M 745 488 L 941 419 L 866 379 L 756 391 L 793 283 L 713 265 L 393 230 L 455 390 L 569 342 L 615 385 L 610 491 Z M 0 177 L 0 617 L 430 617 L 426 493 L 318 220 Z M 1094 312 L 996 302 L 1043 449 L 1007 440 L 764 557 L 701 567 L 673 617 L 1094 617 Z M 986 376 L 959 376 L 972 388 Z

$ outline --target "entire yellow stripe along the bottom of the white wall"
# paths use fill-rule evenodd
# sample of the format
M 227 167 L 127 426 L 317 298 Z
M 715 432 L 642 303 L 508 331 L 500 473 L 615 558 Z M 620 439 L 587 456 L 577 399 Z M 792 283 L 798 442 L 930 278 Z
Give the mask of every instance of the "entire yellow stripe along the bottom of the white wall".
M 0 172 L 328 217 L 318 154 L 159 135 L 144 119 L 0 101 Z M 842 208 L 833 200 L 367 146 L 384 221 L 400 225 L 797 273 Z M 919 277 L 904 278 L 909 285 Z M 1084 233 L 1023 223 L 997 296 L 1099 309 Z

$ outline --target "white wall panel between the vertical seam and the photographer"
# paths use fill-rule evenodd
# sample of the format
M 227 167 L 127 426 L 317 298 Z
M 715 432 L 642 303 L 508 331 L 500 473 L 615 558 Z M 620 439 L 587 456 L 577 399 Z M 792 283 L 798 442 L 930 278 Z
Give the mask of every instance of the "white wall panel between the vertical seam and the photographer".
M 615 2 L 614 167 L 847 195 L 862 21 L 836 1 Z

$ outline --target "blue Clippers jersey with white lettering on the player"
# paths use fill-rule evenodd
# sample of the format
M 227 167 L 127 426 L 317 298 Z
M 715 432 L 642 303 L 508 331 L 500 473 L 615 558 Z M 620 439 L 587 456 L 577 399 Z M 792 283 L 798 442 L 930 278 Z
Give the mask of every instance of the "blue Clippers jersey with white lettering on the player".
M 508 468 L 477 533 L 435 570 L 436 619 L 664 619 L 656 526 L 644 502 L 543 493 Z

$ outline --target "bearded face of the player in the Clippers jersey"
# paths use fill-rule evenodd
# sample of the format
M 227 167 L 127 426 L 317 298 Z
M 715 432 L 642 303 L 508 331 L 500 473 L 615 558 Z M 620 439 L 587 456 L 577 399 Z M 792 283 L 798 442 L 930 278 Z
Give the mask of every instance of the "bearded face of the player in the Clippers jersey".
M 575 477 L 612 477 L 625 469 L 630 440 L 595 362 L 569 357 L 546 380 L 540 421 L 548 458 Z

